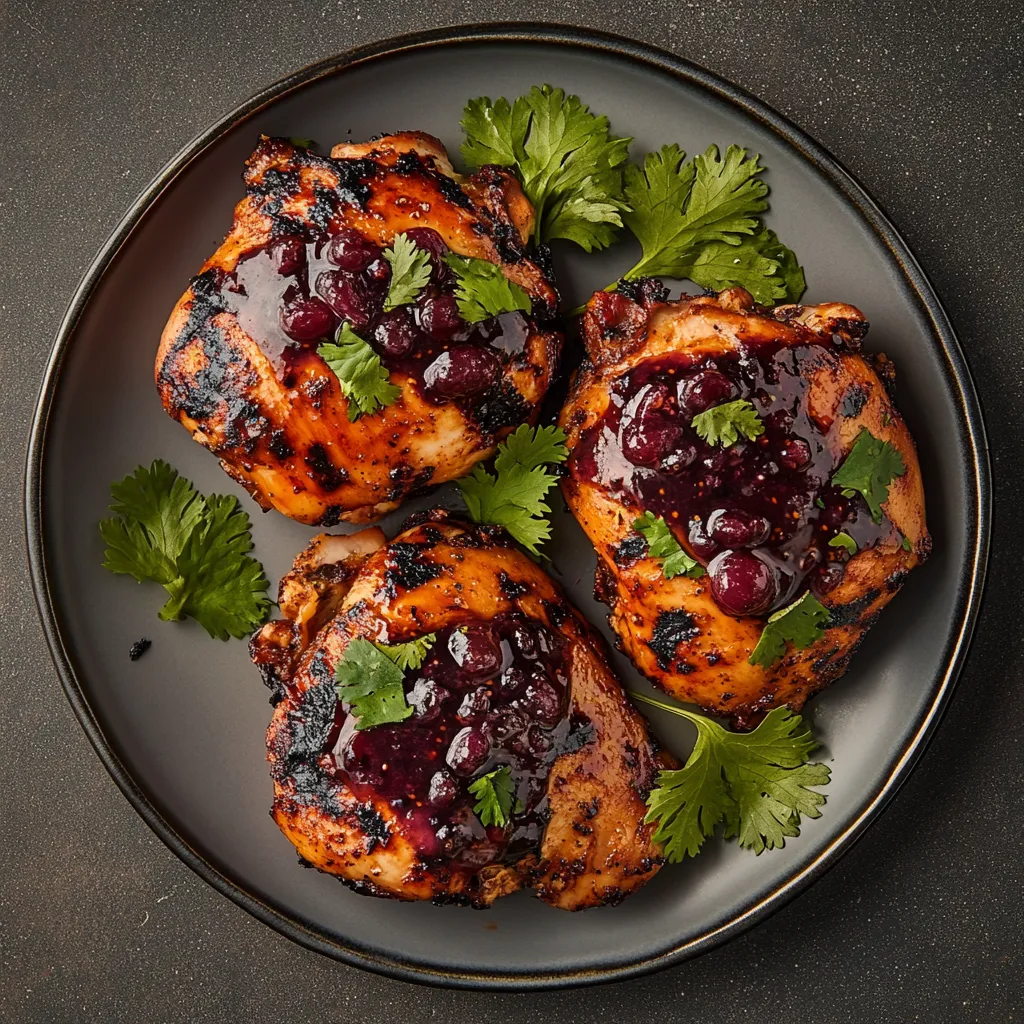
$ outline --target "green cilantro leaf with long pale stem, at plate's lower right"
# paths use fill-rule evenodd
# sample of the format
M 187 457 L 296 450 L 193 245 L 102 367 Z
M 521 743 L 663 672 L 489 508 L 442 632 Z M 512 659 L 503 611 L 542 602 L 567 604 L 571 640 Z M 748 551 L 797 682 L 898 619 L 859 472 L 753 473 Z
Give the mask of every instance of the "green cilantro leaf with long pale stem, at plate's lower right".
M 720 823 L 726 839 L 760 854 L 799 836 L 801 815 L 821 816 L 825 798 L 810 787 L 825 785 L 830 772 L 826 765 L 808 764 L 818 743 L 788 708 L 770 711 L 753 732 L 729 732 L 684 708 L 630 695 L 687 719 L 697 730 L 686 764 L 662 771 L 647 798 L 646 821 L 657 822 L 654 841 L 664 844 L 668 860 L 696 856 Z

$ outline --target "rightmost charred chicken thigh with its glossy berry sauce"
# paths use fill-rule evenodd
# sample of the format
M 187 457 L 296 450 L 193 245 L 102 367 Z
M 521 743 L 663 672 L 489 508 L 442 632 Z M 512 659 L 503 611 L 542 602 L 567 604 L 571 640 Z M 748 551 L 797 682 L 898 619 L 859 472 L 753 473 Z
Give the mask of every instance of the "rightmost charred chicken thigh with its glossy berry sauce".
M 647 282 L 591 299 L 588 361 L 561 415 L 571 449 L 563 493 L 597 550 L 596 593 L 640 671 L 751 726 L 843 675 L 927 556 L 921 471 L 892 402 L 891 364 L 860 354 L 868 325 L 858 309 L 764 309 L 742 289 L 664 294 Z M 763 432 L 724 447 L 701 439 L 693 417 L 740 398 Z M 830 482 L 863 429 L 905 467 L 880 522 L 860 494 Z M 703 574 L 666 579 L 634 527 L 647 512 L 664 516 Z M 841 532 L 854 552 L 829 545 Z M 767 616 L 808 590 L 829 611 L 823 636 L 751 664 Z

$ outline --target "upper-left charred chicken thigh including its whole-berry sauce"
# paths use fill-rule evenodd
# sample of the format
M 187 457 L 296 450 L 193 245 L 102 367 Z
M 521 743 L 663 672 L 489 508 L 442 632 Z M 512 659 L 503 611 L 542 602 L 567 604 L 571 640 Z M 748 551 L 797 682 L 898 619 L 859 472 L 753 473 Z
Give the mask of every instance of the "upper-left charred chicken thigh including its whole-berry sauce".
M 368 522 L 466 473 L 530 420 L 561 335 L 548 272 L 526 258 L 534 212 L 511 172 L 455 174 L 441 144 L 408 132 L 330 158 L 264 137 L 234 223 L 164 329 L 156 380 L 167 412 L 264 508 L 300 522 Z M 430 282 L 385 311 L 404 232 Z M 445 253 L 501 267 L 530 313 L 467 324 Z M 316 353 L 348 323 L 400 397 L 353 410 Z

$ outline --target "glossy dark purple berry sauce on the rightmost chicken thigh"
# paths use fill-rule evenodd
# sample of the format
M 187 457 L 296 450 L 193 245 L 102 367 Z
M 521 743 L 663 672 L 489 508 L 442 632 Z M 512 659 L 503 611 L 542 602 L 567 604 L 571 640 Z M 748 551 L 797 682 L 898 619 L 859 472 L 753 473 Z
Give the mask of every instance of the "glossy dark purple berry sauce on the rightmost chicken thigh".
M 829 482 L 841 462 L 829 436 L 836 425 L 823 430 L 806 395 L 807 374 L 830 357 L 823 345 L 766 345 L 700 364 L 644 362 L 614 385 L 570 469 L 664 516 L 711 565 L 712 594 L 731 614 L 768 614 L 808 589 L 827 593 L 852 557 L 829 540 L 845 531 L 861 550 L 893 535 L 888 519 L 871 520 L 863 498 L 845 498 Z M 693 417 L 737 398 L 754 406 L 764 433 L 724 449 L 701 440 Z

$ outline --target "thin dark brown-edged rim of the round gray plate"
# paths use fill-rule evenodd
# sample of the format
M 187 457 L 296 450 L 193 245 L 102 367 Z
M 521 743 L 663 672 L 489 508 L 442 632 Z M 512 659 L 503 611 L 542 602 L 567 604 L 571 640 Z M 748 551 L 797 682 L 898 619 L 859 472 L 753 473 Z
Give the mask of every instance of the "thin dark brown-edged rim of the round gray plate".
M 237 124 L 288 93 L 318 79 L 342 73 L 364 62 L 400 53 L 466 43 L 503 42 L 561 45 L 606 56 L 628 58 L 647 69 L 696 85 L 729 105 L 738 108 L 748 117 L 754 118 L 775 135 L 780 136 L 783 142 L 796 148 L 822 176 L 829 188 L 839 193 L 846 204 L 857 211 L 874 236 L 889 249 L 901 271 L 901 290 L 911 293 L 920 311 L 930 323 L 944 356 L 944 375 L 951 385 L 958 406 L 962 417 L 957 423 L 958 442 L 973 471 L 973 478 L 969 481 L 972 500 L 966 509 L 968 536 L 972 542 L 966 558 L 966 567 L 969 571 L 961 575 L 956 596 L 957 617 L 954 620 L 954 626 L 958 623 L 958 629 L 955 630 L 949 644 L 941 682 L 935 690 L 931 705 L 893 761 L 884 781 L 854 820 L 834 836 L 817 856 L 801 870 L 774 888 L 760 893 L 744 911 L 659 953 L 632 963 L 606 967 L 496 974 L 471 969 L 453 971 L 428 967 L 413 961 L 403 961 L 398 955 L 381 954 L 327 939 L 319 931 L 308 927 L 298 916 L 283 912 L 247 892 L 177 833 L 125 769 L 113 745 L 108 741 L 98 719 L 89 706 L 85 689 L 79 682 L 71 655 L 63 644 L 47 572 L 43 540 L 42 490 L 49 417 L 65 356 L 78 323 L 121 247 L 150 207 L 195 159 Z M 638 40 L 590 29 L 557 23 L 502 22 L 456 25 L 407 33 L 353 47 L 308 65 L 240 103 L 197 135 L 164 165 L 131 204 L 100 247 L 76 288 L 57 329 L 32 418 L 25 465 L 24 511 L 26 545 L 36 606 L 65 695 L 104 768 L 125 798 L 180 860 L 218 892 L 280 934 L 334 959 L 403 981 L 469 989 L 522 991 L 621 981 L 708 952 L 779 909 L 821 878 L 852 848 L 906 780 L 948 708 L 968 653 L 984 589 L 990 545 L 991 492 L 989 449 L 981 408 L 967 360 L 950 321 L 934 287 L 895 226 L 867 190 L 835 157 L 788 119 L 752 93 L 684 57 Z

